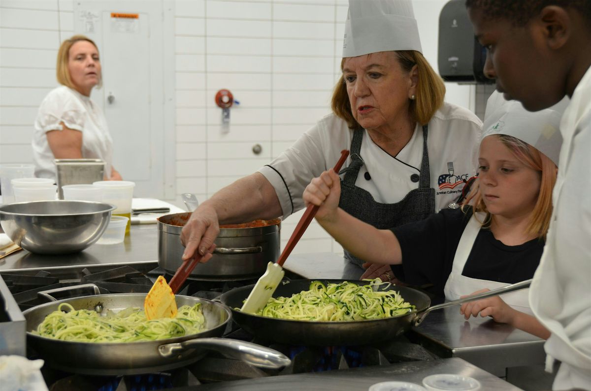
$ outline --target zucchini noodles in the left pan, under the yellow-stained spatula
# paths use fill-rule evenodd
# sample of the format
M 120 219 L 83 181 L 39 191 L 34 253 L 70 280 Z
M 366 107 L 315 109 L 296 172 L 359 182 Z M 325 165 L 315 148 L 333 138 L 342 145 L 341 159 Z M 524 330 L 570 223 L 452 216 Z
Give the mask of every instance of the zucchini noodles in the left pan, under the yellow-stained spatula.
M 70 311 L 63 312 L 63 308 Z M 201 303 L 192 307 L 183 305 L 174 318 L 150 321 L 139 307 L 125 308 L 116 313 L 109 309 L 106 316 L 101 316 L 96 311 L 74 309 L 68 303 L 61 303 L 33 334 L 63 341 L 118 343 L 182 337 L 199 333 L 204 328 Z

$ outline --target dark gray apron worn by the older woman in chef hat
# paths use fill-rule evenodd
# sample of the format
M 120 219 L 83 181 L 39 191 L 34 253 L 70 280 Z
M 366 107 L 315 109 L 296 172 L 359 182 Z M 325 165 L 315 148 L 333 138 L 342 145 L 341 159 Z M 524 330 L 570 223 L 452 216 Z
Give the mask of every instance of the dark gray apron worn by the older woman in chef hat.
M 402 224 L 425 219 L 435 213 L 435 189 L 430 185 L 429 154 L 427 150 L 427 125 L 423 126 L 423 161 L 418 175 L 418 188 L 411 190 L 401 201 L 382 204 L 374 200 L 369 191 L 355 186 L 363 159 L 359 155 L 364 129 L 356 129 L 351 141 L 351 164 L 341 180 L 339 207 L 350 215 L 378 229 L 388 229 Z M 343 279 L 359 279 L 365 269 L 365 261 L 356 258 L 345 250 L 345 270 Z

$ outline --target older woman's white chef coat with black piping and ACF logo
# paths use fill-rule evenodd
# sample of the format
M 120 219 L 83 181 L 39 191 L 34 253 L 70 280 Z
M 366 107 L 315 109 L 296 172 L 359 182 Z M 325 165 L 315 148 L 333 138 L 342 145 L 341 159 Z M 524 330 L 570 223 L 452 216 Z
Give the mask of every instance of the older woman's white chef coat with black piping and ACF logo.
M 463 107 L 444 103 L 428 123 L 428 153 L 431 187 L 436 191 L 436 211 L 447 207 L 462 191 L 464 180 L 476 173 L 482 122 Z M 350 149 L 353 131 L 345 120 L 330 114 L 319 120 L 294 145 L 258 172 L 273 185 L 283 217 L 304 207 L 304 189 L 314 177 L 335 166 L 340 151 Z M 397 203 L 418 188 L 411 175 L 418 174 L 423 159 L 423 129 L 413 136 L 396 157 L 384 152 L 365 132 L 361 144 L 365 164 L 355 182 L 381 203 Z M 347 159 L 343 167 L 351 163 Z M 370 180 L 366 179 L 369 172 Z

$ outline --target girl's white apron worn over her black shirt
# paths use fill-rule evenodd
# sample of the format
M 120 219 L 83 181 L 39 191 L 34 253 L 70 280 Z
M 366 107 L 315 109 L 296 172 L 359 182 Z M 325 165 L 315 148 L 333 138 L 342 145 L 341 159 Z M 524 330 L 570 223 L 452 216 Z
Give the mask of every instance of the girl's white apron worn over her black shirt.
M 472 217 L 470 217 L 470 221 L 468 221 L 464 232 L 462 233 L 460 243 L 457 245 L 456 255 L 453 258 L 452 272 L 447 278 L 445 288 L 443 289 L 446 300 L 456 300 L 459 299 L 460 296 L 469 295 L 483 288 L 488 288 L 492 291 L 492 289 L 502 288 L 503 286 L 511 284 L 509 282 L 482 280 L 462 275 L 464 266 L 466 265 L 466 260 L 468 259 L 470 252 L 472 252 L 472 246 L 474 245 L 476 236 L 478 236 L 480 228 L 482 227 L 480 221 L 476 219 L 477 215 L 478 220 L 480 221 L 484 221 L 486 218 L 486 213 L 483 212 L 473 214 Z M 531 314 L 530 304 L 528 301 L 529 293 L 530 289 L 528 288 L 521 289 L 521 291 L 504 294 L 500 297 L 506 302 L 506 304 L 511 305 L 511 307 Z

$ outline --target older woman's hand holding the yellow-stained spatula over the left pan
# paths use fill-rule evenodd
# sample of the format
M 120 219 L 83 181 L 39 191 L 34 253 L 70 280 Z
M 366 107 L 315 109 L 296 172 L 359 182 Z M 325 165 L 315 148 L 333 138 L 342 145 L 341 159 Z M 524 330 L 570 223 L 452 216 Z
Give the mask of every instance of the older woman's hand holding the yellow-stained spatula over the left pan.
M 211 258 L 207 256 L 207 251 L 212 247 L 219 233 L 216 209 L 204 202 L 191 214 L 181 231 L 181 243 L 185 246 L 182 259 L 191 258 L 199 251 L 201 255 L 205 255 L 201 262 L 207 262 Z

